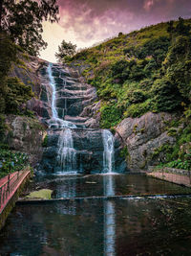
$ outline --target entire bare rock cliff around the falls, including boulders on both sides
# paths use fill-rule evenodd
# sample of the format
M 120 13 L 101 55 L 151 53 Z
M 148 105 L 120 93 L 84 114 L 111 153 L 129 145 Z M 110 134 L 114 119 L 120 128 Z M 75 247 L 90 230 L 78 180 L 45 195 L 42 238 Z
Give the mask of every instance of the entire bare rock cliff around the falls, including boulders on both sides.
M 49 63 L 40 58 L 25 60 L 27 68 L 15 67 L 11 76 L 17 76 L 24 83 L 32 85 L 35 98 L 27 103 L 27 107 L 35 112 L 37 119 L 45 127 L 50 126 L 53 118 L 53 88 L 50 86 L 48 74 Z M 103 139 L 99 129 L 100 101 L 96 97 L 96 88 L 87 84 L 80 74 L 85 66 L 74 69 L 53 64 L 53 80 L 56 87 L 56 111 L 60 120 L 74 124 L 72 130 L 76 168 L 80 172 L 101 172 L 103 166 Z M 126 118 L 116 128 L 115 135 L 115 169 L 122 172 L 126 163 L 120 151 L 127 146 L 127 168 L 131 171 L 147 170 L 147 166 L 159 163 L 154 152 L 162 145 L 173 145 L 175 138 L 167 134 L 169 122 L 176 119 L 167 113 L 147 113 L 140 118 Z M 37 124 L 36 128 L 31 123 Z M 37 120 L 30 121 L 24 117 L 9 117 L 7 123 L 11 128 L 12 147 L 14 150 L 27 151 L 32 154 L 32 163 L 38 162 L 42 156 L 41 143 L 46 131 L 41 130 Z M 35 131 L 34 131 L 35 130 Z M 63 128 L 50 128 L 48 145 L 44 148 L 40 169 L 59 171 L 57 163 L 58 141 Z M 34 134 L 35 133 L 35 134 Z M 185 148 L 185 149 L 184 149 Z M 184 146 L 182 151 L 186 151 Z

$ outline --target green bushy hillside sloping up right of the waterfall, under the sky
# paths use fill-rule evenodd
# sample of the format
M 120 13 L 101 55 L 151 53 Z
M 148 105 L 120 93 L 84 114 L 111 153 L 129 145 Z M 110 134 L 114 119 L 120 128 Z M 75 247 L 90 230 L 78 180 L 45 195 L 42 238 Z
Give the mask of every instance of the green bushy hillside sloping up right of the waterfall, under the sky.
M 175 112 L 191 103 L 191 20 L 135 31 L 77 53 L 83 75 L 102 101 L 101 127 L 148 111 Z

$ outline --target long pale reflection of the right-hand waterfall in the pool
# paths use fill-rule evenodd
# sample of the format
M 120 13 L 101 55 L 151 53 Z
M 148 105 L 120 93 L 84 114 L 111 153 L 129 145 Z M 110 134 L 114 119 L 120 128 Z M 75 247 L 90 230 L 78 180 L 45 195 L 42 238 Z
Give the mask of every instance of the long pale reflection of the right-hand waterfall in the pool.
M 104 196 L 115 195 L 114 175 L 103 177 Z M 116 255 L 116 212 L 115 203 L 112 200 L 105 200 L 104 207 L 104 255 Z

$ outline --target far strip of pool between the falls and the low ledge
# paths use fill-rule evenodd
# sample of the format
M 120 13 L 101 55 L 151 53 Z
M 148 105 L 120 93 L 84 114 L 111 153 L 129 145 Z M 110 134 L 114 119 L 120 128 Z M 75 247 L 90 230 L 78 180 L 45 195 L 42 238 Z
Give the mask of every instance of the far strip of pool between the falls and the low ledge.
M 146 175 L 43 176 L 37 177 L 36 182 L 52 189 L 53 198 L 191 193 L 189 188 Z

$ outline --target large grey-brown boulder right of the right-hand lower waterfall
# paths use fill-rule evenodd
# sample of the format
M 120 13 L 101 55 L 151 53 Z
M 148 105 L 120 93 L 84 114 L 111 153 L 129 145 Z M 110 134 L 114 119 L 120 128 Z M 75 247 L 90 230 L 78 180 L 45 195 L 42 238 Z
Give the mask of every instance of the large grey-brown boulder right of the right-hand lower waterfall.
M 117 132 L 128 149 L 128 168 L 131 171 L 146 170 L 149 165 L 159 164 L 153 153 L 162 145 L 175 143 L 176 139 L 166 130 L 175 119 L 168 113 L 148 112 L 140 118 L 126 118 L 117 126 Z

